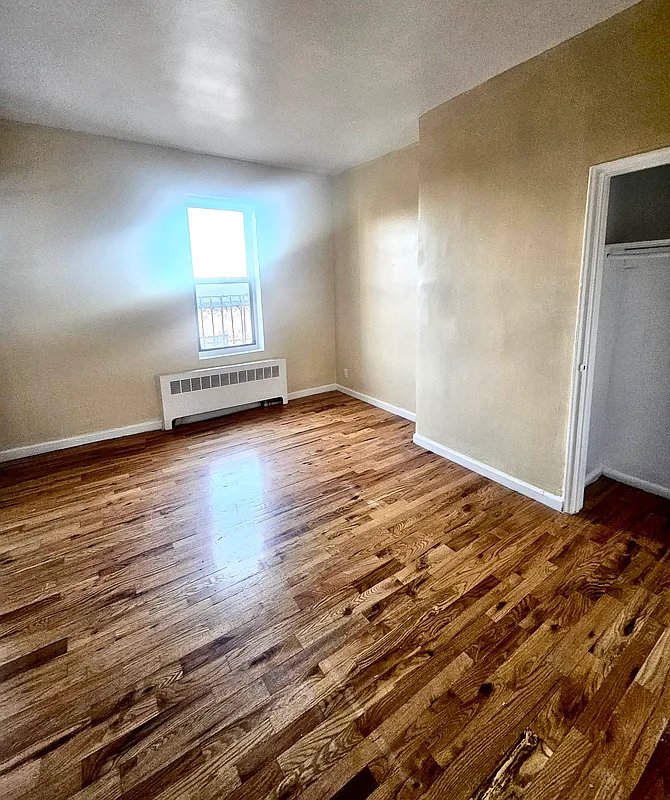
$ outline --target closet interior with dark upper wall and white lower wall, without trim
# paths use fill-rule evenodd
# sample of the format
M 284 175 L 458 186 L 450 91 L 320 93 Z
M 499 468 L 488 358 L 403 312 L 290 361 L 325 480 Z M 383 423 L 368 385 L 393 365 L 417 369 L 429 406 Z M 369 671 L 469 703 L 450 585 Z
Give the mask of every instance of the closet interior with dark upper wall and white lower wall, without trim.
M 670 497 L 670 164 L 611 180 L 587 483 Z

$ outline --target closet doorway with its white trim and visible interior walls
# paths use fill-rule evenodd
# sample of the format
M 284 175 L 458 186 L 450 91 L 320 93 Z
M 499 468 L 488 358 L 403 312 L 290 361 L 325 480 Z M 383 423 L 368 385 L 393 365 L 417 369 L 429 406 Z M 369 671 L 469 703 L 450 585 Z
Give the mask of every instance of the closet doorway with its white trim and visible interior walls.
M 600 475 L 670 498 L 670 148 L 592 167 L 564 510 Z

